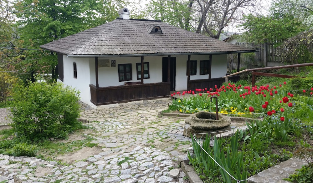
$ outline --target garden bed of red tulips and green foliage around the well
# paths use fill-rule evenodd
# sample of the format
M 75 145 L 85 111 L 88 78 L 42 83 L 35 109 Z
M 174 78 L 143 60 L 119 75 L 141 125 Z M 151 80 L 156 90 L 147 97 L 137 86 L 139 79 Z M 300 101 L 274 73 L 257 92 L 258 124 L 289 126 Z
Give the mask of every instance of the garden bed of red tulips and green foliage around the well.
M 313 140 L 313 88 L 310 87 L 289 91 L 288 81 L 277 86 L 254 87 L 225 83 L 214 89 L 173 93 L 173 96 L 193 95 L 186 99 L 173 99 L 169 106 L 172 111 L 215 112 L 215 98 L 210 102 L 210 97 L 215 95 L 219 113 L 253 118 L 251 123 L 247 123 L 248 130 L 239 131 L 233 137 L 215 139 L 214 147 L 208 145 L 209 137 L 203 140 L 201 146 L 205 151 L 197 143 L 200 140 L 192 141 L 195 155 L 189 155 L 189 159 L 200 178 L 206 183 L 219 182 L 220 179 L 227 183 L 236 182 L 207 153 L 238 180 L 245 180 L 292 156 L 309 157 L 313 161 L 313 153 L 308 153 L 313 152 L 312 143 L 305 141 Z M 301 152 L 297 148 L 306 148 L 307 151 Z M 310 164 L 309 158 L 306 160 Z M 311 171 L 313 167 L 306 167 L 306 170 Z

